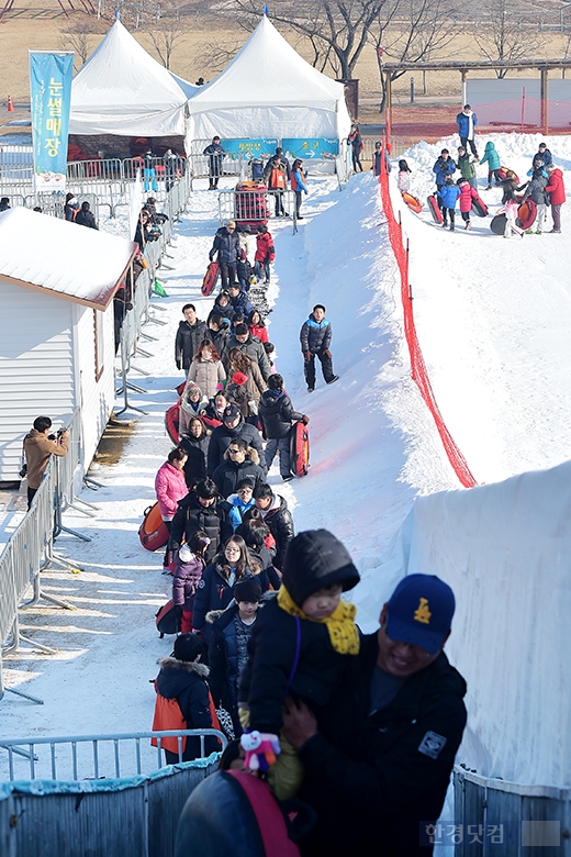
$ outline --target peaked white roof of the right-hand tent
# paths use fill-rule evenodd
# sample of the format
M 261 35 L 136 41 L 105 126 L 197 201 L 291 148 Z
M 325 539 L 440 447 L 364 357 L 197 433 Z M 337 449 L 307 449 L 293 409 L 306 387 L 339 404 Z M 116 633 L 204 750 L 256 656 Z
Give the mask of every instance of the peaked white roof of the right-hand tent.
M 344 98 L 343 84 L 306 63 L 264 15 L 224 71 L 190 99 L 189 110 L 303 107 L 335 112 Z

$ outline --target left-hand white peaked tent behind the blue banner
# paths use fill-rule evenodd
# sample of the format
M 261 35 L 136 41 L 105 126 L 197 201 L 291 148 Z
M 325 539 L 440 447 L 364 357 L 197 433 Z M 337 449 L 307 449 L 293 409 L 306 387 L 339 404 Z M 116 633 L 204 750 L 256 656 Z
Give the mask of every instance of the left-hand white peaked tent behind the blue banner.
M 74 78 L 69 133 L 184 134 L 187 99 L 197 89 L 153 59 L 115 21 Z

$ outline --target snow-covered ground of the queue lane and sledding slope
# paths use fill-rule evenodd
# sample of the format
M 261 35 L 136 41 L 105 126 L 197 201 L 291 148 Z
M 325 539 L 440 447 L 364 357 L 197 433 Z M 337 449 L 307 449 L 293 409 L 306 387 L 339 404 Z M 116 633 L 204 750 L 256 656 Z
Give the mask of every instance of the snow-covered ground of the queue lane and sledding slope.
M 525 176 L 540 137 L 493 138 L 502 162 Z M 571 169 L 571 140 L 547 142 L 556 163 Z M 405 153 L 413 192 L 421 198 L 434 189 L 432 166 L 443 145 L 454 152 L 458 142 L 450 137 Z M 485 168 L 480 172 L 485 176 Z M 571 187 L 569 172 L 566 178 Z M 482 178 L 481 188 L 484 185 Z M 334 179 L 310 176 L 310 186 L 296 235 L 287 223 L 270 223 L 277 259 L 269 333 L 293 404 L 311 416 L 312 468 L 305 479 L 287 486 L 275 468 L 269 481 L 287 498 L 298 531 L 326 526 L 354 554 L 363 574 L 354 591 L 358 621 L 372 631 L 399 575 L 398 569 L 380 572 L 383 552 L 414 498 L 459 486 L 410 378 L 400 281 L 378 185 L 363 174 L 343 192 Z M 401 204 L 393 191 L 394 204 Z M 499 189 L 482 192 L 492 208 L 500 203 Z M 160 319 L 168 324 L 146 329 L 157 337 L 149 344 L 154 356 L 137 358 L 152 376 L 134 376 L 145 393 L 133 397 L 133 403 L 148 416 L 136 418 L 122 460 L 97 471 L 103 488 L 97 494 L 83 492 L 99 507 L 98 516 L 68 515 L 69 525 L 92 542 L 57 541 L 58 550 L 83 570 L 49 569 L 43 575 L 45 591 L 77 609 L 41 603 L 22 616 L 22 632 L 58 654 L 23 648 L 7 658 L 7 686 L 26 690 L 45 704 L 32 705 L 8 693 L 0 703 L 4 736 L 150 726 L 154 692 L 148 682 L 156 675 L 156 659 L 172 645 L 169 638 L 159 639 L 154 624 L 155 612 L 169 598 L 169 579 L 160 574 L 161 556 L 143 550 L 136 531 L 154 500 L 155 474 L 171 448 L 163 420 L 181 380 L 173 364 L 180 309 L 192 301 L 205 318 L 212 305 L 200 297 L 200 285 L 217 226 L 215 214 L 215 194 L 199 186 L 177 229 L 175 258 L 167 260 L 172 270 L 161 276 L 169 297 L 161 301 L 167 312 Z M 451 234 L 435 226 L 426 209 L 419 216 L 407 209 L 402 213 L 425 361 L 443 416 L 480 483 L 571 457 L 566 420 L 571 404 L 568 216 L 563 207 L 561 235 L 508 242 L 492 235 L 489 219 L 473 218 L 471 232 Z M 333 323 L 332 350 L 340 380 L 329 388 L 318 378 L 310 396 L 299 330 L 316 302 L 326 305 Z M 461 599 L 461 592 L 457 597 Z M 466 633 L 461 627 L 454 631 Z

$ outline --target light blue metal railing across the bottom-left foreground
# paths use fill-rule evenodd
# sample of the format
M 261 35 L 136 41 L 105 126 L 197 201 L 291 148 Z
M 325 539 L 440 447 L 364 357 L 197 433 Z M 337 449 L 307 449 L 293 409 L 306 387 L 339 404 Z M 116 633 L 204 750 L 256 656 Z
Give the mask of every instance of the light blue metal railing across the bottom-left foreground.
M 227 738 L 217 730 L 165 730 L 113 735 L 77 735 L 65 737 L 0 738 L 0 750 L 8 753 L 8 776 L 0 780 L 85 780 L 133 777 L 150 773 L 167 765 L 161 758 L 163 741 L 177 738 L 182 761 L 183 737 L 198 737 L 200 757 L 205 758 L 204 738 L 219 738 L 225 749 Z M 157 746 L 150 745 L 156 738 Z M 1 759 L 4 767 L 4 759 Z

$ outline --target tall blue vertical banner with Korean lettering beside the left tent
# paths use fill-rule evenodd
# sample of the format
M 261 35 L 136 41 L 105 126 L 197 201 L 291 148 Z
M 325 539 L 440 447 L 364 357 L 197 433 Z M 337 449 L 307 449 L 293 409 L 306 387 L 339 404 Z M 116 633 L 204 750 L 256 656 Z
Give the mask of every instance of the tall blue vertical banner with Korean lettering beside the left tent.
M 30 51 L 34 189 L 66 189 L 74 54 Z

